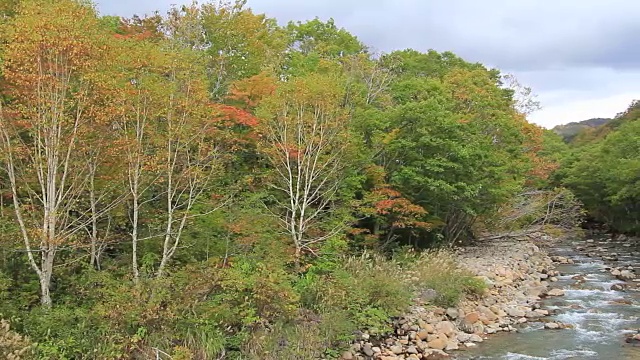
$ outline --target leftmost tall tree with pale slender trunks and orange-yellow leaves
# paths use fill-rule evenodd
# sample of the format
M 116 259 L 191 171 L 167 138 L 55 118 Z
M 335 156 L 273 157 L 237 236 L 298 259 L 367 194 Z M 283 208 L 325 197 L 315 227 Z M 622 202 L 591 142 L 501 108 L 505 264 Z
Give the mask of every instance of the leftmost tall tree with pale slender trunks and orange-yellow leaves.
M 100 111 L 95 99 L 107 48 L 93 9 L 70 0 L 23 1 L 4 32 L 3 165 L 41 302 L 49 307 L 56 253 L 74 245 L 90 213 L 76 201 L 88 180 L 79 144 Z

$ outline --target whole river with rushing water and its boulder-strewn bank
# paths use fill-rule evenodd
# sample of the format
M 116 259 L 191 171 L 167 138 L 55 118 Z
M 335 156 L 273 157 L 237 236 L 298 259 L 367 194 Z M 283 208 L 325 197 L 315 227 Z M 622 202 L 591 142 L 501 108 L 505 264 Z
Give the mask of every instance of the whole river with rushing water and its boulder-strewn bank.
M 343 359 L 640 358 L 640 243 L 625 237 L 491 241 L 458 251 L 488 290 L 457 308 L 428 299 Z

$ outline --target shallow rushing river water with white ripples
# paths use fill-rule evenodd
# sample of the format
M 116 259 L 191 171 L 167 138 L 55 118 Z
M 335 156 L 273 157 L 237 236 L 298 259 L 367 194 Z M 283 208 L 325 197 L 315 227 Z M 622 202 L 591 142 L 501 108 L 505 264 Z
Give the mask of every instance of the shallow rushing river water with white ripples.
M 640 348 L 626 344 L 625 333 L 640 329 L 640 291 L 612 291 L 623 283 L 612 276 L 599 258 L 574 250 L 583 242 L 567 242 L 550 250 L 551 255 L 573 259 L 574 264 L 558 265 L 562 276 L 552 287 L 565 289 L 565 296 L 542 301 L 553 312 L 545 321 L 569 324 L 572 329 L 545 330 L 542 322 L 523 325 L 518 333 L 493 335 L 478 348 L 459 352 L 456 359 L 602 359 L 640 360 Z M 596 243 L 617 252 L 615 266 L 634 266 L 640 273 L 640 244 Z M 572 279 L 583 276 L 584 282 Z

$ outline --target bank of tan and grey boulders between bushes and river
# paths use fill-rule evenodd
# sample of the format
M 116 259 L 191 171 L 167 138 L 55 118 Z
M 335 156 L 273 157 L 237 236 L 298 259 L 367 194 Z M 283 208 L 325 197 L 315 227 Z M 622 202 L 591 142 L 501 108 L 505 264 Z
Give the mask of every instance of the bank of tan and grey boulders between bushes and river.
M 565 294 L 554 287 L 560 275 L 555 263 L 571 261 L 554 259 L 541 249 L 550 242 L 550 238 L 539 235 L 461 249 L 460 264 L 488 285 L 485 296 L 445 309 L 429 306 L 435 294 L 425 289 L 408 314 L 394 322 L 393 335 L 374 339 L 363 333 L 342 359 L 455 358 L 494 334 L 517 332 L 527 322 L 545 321 L 550 311 L 541 308 L 541 299 Z M 552 331 L 570 326 L 547 321 L 544 328 Z

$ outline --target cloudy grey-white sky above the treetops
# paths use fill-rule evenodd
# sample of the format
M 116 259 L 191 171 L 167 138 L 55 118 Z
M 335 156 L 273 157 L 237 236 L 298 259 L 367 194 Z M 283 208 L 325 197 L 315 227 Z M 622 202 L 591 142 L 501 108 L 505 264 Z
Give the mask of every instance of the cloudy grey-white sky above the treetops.
M 189 0 L 97 0 L 131 16 Z M 372 49 L 450 50 L 513 73 L 538 94 L 545 127 L 612 117 L 640 99 L 638 0 L 249 0 L 281 24 L 334 18 Z

